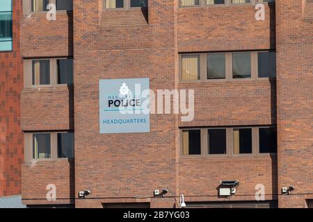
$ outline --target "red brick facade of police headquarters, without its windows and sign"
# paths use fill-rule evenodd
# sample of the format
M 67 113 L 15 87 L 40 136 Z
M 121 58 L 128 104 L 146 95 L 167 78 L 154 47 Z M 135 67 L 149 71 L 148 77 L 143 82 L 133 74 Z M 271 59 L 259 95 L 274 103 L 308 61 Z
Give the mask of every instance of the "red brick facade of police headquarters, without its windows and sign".
M 279 200 L 280 207 L 305 207 L 311 196 L 280 195 L 281 187 L 289 185 L 296 187 L 294 194 L 312 193 L 313 183 L 312 23 L 303 22 L 299 13 L 304 4 L 296 2 L 266 4 L 264 22 L 255 21 L 251 5 L 179 8 L 177 1 L 161 0 L 149 1 L 147 12 L 133 13 L 102 10 L 100 0 L 75 0 L 72 14 L 59 12 L 57 21 L 50 23 L 44 13 L 24 15 L 22 56 L 74 56 L 74 93 L 57 85 L 24 89 L 22 129 L 27 133 L 74 127 L 75 134 L 74 162 L 24 163 L 24 203 L 178 207 L 180 194 L 188 202 L 225 201 L 218 196 L 219 181 L 239 180 L 231 200 L 255 200 L 255 186 L 263 184 L 266 200 Z M 292 26 L 284 20 L 289 11 L 296 17 Z M 38 33 L 42 24 L 51 27 Z M 277 81 L 179 83 L 179 53 L 275 49 Z M 155 92 L 195 89 L 195 119 L 182 122 L 177 114 L 151 114 L 150 133 L 99 134 L 99 80 L 110 78 L 150 78 Z M 295 84 L 299 80 L 300 87 Z M 278 156 L 179 156 L 179 128 L 276 124 Z M 57 189 L 53 203 L 45 200 L 49 183 Z M 154 189 L 163 188 L 169 190 L 166 198 L 154 198 Z M 91 191 L 88 198 L 77 198 L 86 189 Z

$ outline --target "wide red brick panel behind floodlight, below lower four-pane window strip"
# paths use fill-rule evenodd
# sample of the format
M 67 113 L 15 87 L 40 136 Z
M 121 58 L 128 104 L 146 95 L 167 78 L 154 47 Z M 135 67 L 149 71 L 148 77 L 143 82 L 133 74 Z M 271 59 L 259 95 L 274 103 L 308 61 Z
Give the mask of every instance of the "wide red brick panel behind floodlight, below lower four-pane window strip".
M 220 180 L 239 180 L 231 200 L 255 200 L 255 186 L 264 185 L 266 200 L 277 199 L 276 157 L 211 157 L 179 160 L 179 193 L 188 201 L 225 200 Z

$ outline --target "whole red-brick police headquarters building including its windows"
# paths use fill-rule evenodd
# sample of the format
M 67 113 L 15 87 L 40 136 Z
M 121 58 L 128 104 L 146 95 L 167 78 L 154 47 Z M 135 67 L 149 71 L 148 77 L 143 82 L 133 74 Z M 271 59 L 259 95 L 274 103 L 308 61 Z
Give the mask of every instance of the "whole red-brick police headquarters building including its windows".
M 183 194 L 187 207 L 312 207 L 312 9 L 24 0 L 23 203 L 180 207 Z M 102 92 L 147 78 L 153 92 L 193 90 L 193 120 L 148 114 L 149 126 L 104 127 L 103 113 L 118 114 Z

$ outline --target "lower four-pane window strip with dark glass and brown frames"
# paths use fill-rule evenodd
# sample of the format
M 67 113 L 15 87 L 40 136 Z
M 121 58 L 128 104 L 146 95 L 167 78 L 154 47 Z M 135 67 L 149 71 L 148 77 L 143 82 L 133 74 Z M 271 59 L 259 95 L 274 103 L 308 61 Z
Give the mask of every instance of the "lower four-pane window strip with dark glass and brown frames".
M 277 153 L 276 126 L 184 129 L 182 156 L 225 157 Z

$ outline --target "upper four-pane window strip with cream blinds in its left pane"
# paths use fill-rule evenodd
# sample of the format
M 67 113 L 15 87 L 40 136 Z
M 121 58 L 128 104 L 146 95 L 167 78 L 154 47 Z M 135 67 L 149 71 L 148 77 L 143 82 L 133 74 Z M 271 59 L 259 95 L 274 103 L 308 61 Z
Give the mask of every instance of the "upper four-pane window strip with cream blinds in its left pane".
M 180 54 L 179 66 L 179 80 L 184 83 L 276 76 L 275 51 Z

